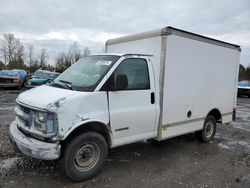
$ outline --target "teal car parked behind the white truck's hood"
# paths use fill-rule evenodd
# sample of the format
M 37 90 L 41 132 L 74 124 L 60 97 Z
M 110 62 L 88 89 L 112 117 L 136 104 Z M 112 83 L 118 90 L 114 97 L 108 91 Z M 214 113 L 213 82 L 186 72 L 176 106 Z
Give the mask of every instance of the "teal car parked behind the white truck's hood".
M 31 79 L 27 81 L 26 87 L 36 87 L 53 81 L 60 73 L 47 70 L 37 70 Z

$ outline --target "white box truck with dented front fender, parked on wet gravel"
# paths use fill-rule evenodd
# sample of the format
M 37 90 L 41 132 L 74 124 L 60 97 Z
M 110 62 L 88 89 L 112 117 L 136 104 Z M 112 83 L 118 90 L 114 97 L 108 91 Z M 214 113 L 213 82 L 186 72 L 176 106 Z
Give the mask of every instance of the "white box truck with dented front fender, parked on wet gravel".
M 240 51 L 173 27 L 108 40 L 107 53 L 18 96 L 11 140 L 60 159 L 74 181 L 95 176 L 117 146 L 192 132 L 209 142 L 235 115 Z

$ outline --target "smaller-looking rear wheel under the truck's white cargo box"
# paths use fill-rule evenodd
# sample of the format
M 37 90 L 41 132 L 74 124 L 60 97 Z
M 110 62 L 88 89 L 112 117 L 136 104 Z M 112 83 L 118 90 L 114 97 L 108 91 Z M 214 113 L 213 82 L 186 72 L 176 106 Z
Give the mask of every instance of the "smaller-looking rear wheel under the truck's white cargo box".
M 209 143 L 216 133 L 216 120 L 214 116 L 208 115 L 204 121 L 203 129 L 195 132 L 197 140 L 201 143 Z

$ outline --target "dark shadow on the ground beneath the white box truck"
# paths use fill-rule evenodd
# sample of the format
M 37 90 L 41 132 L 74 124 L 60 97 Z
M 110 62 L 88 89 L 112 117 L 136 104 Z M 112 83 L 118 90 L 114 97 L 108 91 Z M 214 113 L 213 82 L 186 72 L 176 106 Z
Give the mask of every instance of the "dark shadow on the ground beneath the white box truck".
M 131 177 L 138 173 L 140 176 L 143 173 L 160 174 L 166 169 L 173 169 L 173 165 L 177 163 L 186 160 L 192 163 L 197 157 L 206 158 L 207 155 L 213 155 L 216 147 L 214 145 L 200 144 L 193 134 L 188 134 L 158 144 L 142 141 L 114 148 L 110 150 L 103 170 L 95 178 L 81 183 L 73 183 L 66 178 L 56 161 L 41 161 L 22 156 L 23 161 L 17 166 L 16 176 L 29 176 L 33 183 L 49 181 L 51 186 L 91 187 L 96 183 L 107 183 L 111 178 Z M 33 185 L 36 186 L 35 184 Z

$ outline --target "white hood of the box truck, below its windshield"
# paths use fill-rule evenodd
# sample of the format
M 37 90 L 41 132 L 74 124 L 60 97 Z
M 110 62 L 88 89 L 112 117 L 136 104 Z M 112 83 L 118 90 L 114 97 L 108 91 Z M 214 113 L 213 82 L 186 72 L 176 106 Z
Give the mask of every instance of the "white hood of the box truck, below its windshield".
M 16 101 L 32 107 L 45 109 L 50 103 L 76 93 L 78 93 L 78 91 L 43 85 L 21 93 Z

